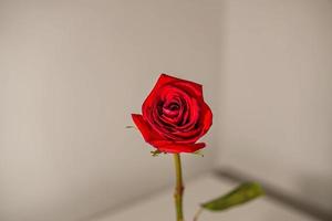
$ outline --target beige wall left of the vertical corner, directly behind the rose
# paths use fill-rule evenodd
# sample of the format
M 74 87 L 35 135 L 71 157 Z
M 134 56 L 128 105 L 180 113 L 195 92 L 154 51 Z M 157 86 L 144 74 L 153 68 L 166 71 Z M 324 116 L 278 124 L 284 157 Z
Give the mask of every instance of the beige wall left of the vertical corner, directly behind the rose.
M 172 183 L 173 158 L 125 126 L 160 72 L 217 108 L 217 4 L 0 1 L 0 220 L 77 220 Z M 211 167 L 214 136 L 187 175 Z

